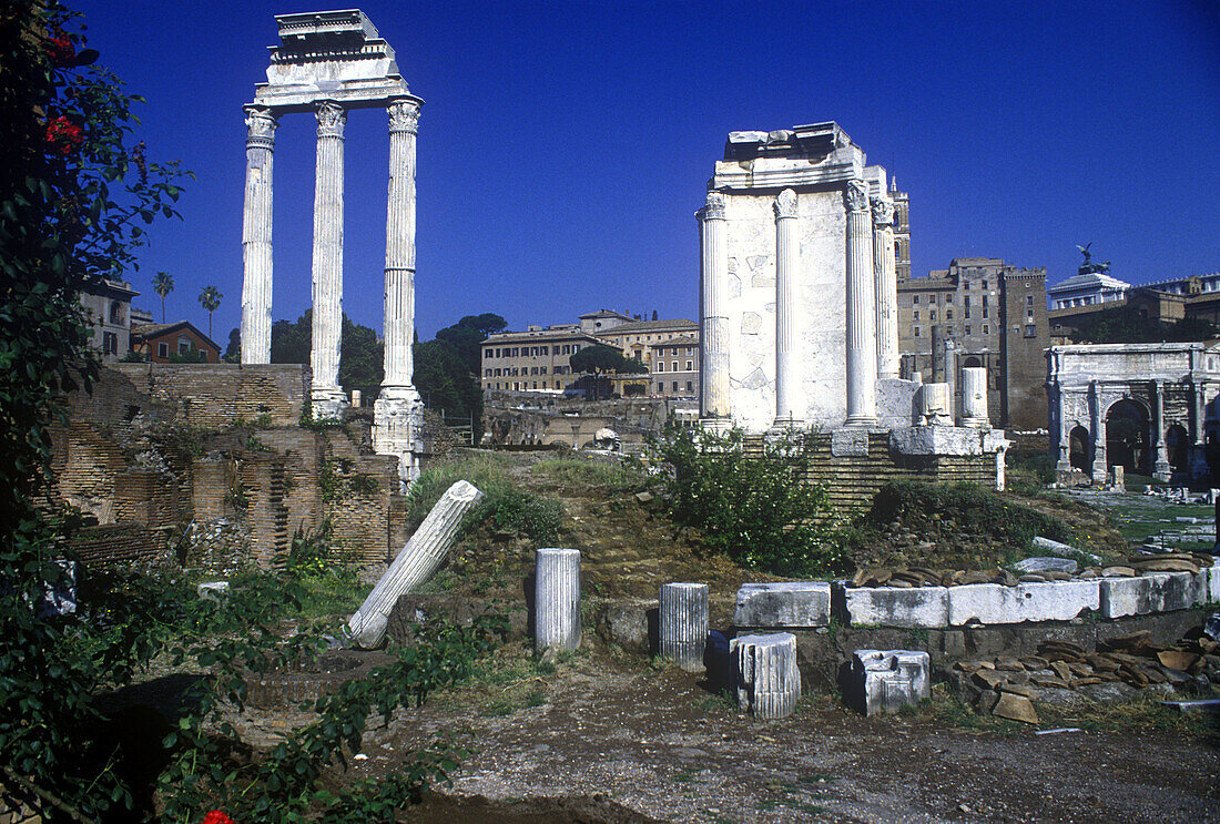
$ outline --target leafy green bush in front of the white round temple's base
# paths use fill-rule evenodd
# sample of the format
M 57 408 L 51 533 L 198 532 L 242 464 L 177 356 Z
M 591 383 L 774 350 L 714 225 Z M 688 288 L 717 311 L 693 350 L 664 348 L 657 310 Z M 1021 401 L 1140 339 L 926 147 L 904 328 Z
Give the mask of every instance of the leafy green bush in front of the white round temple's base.
M 826 491 L 804 480 L 806 436 L 745 449 L 727 435 L 667 426 L 654 444 L 673 468 L 671 511 L 709 551 L 776 575 L 843 573 L 852 562 L 833 538 Z

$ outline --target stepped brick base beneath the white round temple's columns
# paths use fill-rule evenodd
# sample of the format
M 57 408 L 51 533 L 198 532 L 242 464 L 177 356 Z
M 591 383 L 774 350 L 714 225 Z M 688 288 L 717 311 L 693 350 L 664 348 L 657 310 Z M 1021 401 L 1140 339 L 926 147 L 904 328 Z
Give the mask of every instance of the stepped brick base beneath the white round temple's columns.
M 863 433 L 861 433 L 863 435 Z M 813 437 L 806 479 L 826 487 L 831 505 L 858 513 L 872 505 L 886 483 L 903 479 L 996 485 L 996 455 L 903 455 L 889 447 L 886 432 L 867 433 L 867 454 L 836 455 L 830 433 Z

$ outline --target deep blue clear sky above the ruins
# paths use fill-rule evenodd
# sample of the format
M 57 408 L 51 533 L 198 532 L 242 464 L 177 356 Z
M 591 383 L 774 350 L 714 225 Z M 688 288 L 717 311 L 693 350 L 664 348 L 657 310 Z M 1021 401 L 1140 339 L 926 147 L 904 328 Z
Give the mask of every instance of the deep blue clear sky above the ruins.
M 70 0 L 71 2 L 71 0 Z M 150 280 L 206 328 L 196 295 L 242 294 L 242 105 L 265 79 L 267 0 L 71 2 L 132 93 L 152 157 L 198 175 L 161 222 Z M 421 338 L 494 311 L 511 328 L 599 308 L 698 313 L 698 231 L 734 129 L 827 120 L 911 203 L 913 271 L 991 255 L 1075 272 L 1092 242 L 1142 283 L 1220 270 L 1220 4 L 365 1 L 425 99 L 418 137 Z M 314 121 L 281 121 L 273 315 L 310 303 Z M 344 309 L 381 328 L 388 137 L 346 131 Z

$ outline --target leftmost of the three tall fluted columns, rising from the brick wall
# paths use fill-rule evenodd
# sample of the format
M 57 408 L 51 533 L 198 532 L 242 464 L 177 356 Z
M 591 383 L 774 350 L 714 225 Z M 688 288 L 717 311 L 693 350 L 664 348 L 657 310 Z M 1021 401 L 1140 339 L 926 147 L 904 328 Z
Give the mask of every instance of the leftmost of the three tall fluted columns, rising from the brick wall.
M 245 106 L 245 209 L 242 216 L 242 363 L 271 363 L 271 156 L 276 114 Z

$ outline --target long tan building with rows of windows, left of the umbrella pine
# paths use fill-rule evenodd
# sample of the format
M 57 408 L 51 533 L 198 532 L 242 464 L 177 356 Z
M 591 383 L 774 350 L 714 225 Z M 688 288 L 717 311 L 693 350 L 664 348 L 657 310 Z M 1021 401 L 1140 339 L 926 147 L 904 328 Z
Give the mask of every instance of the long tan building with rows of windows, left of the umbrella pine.
M 583 321 L 582 321 L 583 322 Z M 521 392 L 572 388 L 581 377 L 569 365 L 571 356 L 601 341 L 581 323 L 529 326 L 525 332 L 499 332 L 483 341 L 483 370 L 479 385 L 486 389 Z

